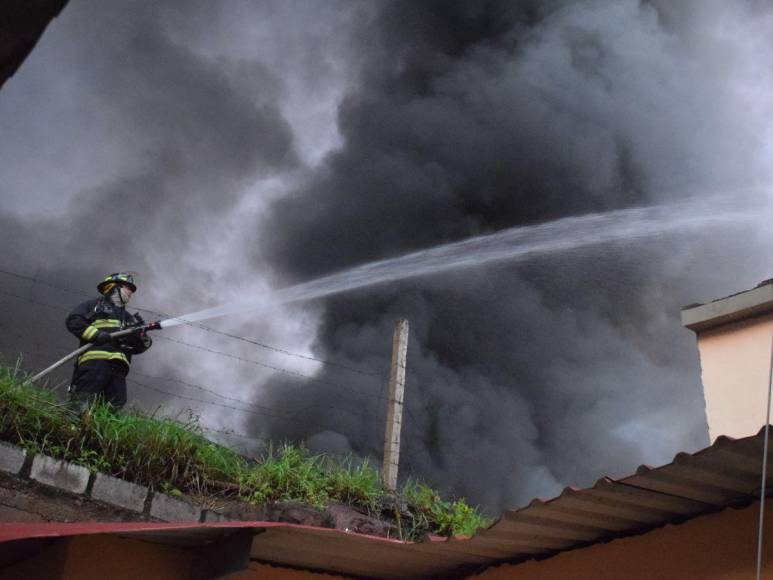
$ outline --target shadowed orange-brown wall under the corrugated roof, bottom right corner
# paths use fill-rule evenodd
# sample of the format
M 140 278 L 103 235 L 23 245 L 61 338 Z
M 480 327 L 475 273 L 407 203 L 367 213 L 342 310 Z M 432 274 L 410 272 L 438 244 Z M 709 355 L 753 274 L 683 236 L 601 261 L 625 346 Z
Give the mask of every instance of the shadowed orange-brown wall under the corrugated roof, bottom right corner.
M 773 513 L 766 506 L 762 578 L 773 579 Z M 748 580 L 754 578 L 759 502 L 640 536 L 490 568 L 476 580 Z

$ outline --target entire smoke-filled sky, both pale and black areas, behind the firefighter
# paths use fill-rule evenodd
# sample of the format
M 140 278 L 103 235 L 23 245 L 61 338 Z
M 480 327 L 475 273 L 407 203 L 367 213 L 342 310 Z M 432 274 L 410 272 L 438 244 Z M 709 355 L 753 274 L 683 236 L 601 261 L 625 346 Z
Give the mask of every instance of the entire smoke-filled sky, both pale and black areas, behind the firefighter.
M 403 481 L 496 514 L 697 450 L 680 309 L 771 277 L 771 27 L 754 0 L 71 0 L 0 91 L 0 355 L 73 350 L 68 311 L 133 270 L 148 320 L 264 301 L 159 332 L 130 375 L 245 451 L 378 464 L 399 318 Z M 273 300 L 688 200 L 755 219 Z

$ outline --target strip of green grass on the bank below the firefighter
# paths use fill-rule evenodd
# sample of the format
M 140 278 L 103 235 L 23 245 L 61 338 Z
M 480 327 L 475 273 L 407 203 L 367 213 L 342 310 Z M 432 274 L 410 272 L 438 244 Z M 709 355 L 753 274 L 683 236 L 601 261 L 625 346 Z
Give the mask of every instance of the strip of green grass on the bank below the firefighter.
M 385 492 L 378 471 L 353 457 L 334 460 L 303 447 L 269 447 L 258 459 L 208 440 L 195 417 L 120 412 L 94 405 L 78 416 L 55 395 L 29 383 L 17 368 L 0 365 L 0 440 L 31 452 L 148 485 L 172 495 L 230 494 L 253 504 L 296 501 L 316 507 L 337 502 L 395 520 L 398 535 L 472 535 L 491 522 L 463 499 L 409 482 L 397 496 Z M 398 506 L 407 504 L 407 509 Z

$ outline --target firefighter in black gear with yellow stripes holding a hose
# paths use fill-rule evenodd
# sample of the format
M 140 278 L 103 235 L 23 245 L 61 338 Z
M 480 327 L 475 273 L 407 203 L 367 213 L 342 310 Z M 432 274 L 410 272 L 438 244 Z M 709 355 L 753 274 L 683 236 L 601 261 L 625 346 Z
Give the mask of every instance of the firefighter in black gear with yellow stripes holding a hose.
M 67 317 L 67 330 L 81 341 L 81 346 L 94 347 L 75 362 L 70 401 L 83 413 L 99 397 L 117 408 L 126 404 L 126 375 L 132 355 L 141 354 L 151 345 L 150 337 L 138 330 L 120 338 L 110 334 L 139 326 L 139 314 L 130 314 L 126 305 L 137 286 L 128 272 L 110 274 L 97 286 L 101 296 L 78 305 Z

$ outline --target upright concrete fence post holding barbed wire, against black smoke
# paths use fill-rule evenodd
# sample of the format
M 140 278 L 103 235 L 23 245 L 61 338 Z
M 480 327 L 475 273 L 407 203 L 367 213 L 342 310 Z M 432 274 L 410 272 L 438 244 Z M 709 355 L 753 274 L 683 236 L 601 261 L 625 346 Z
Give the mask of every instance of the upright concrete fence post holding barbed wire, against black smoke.
M 400 464 L 400 427 L 403 423 L 403 392 L 405 391 L 405 355 L 408 351 L 408 321 L 398 320 L 392 338 L 392 368 L 389 372 L 389 402 L 384 435 L 384 465 L 381 475 L 390 491 L 397 489 L 397 468 Z

